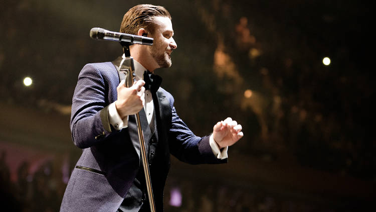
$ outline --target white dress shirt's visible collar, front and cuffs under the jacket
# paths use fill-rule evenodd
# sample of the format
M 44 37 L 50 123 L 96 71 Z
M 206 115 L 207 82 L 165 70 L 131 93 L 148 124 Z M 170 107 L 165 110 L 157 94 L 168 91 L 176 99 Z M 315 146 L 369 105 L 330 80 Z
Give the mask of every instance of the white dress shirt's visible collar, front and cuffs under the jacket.
M 124 55 L 123 55 L 124 57 Z M 135 80 L 143 80 L 143 73 L 146 70 L 145 67 L 143 67 L 139 62 L 136 60 L 133 60 L 134 62 L 134 72 L 136 74 Z M 116 101 L 115 101 L 116 102 Z M 120 118 L 120 115 L 117 113 L 115 102 L 112 102 L 109 107 L 109 121 L 112 127 L 114 127 L 116 130 L 121 130 L 123 128 L 128 127 L 128 116 L 124 119 Z M 154 113 L 154 104 L 153 104 L 153 98 L 151 96 L 150 90 L 145 90 L 145 104 L 143 105 L 143 109 L 145 110 L 146 119 L 147 122 L 150 124 L 151 118 L 153 117 Z M 212 148 L 213 154 L 217 156 L 218 159 L 225 159 L 227 158 L 227 150 L 228 147 L 225 147 L 220 150 L 217 143 L 214 141 L 213 135 L 210 136 L 209 139 L 210 147 Z

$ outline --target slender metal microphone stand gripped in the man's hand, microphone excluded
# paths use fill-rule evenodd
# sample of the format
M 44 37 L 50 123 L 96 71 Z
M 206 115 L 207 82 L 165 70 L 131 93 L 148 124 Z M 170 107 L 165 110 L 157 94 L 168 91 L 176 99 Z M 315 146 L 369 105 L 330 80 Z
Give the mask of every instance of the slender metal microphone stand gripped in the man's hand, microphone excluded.
M 126 76 L 124 85 L 126 87 L 130 87 L 133 85 L 133 80 L 135 77 L 133 57 L 130 56 L 130 51 L 129 51 L 129 46 L 132 45 L 133 43 L 132 42 L 120 42 L 120 44 L 123 47 L 125 58 L 121 60 L 120 65 L 119 65 L 119 70 L 123 72 Z M 140 144 L 141 160 L 142 160 L 143 170 L 145 173 L 147 195 L 149 197 L 150 211 L 155 212 L 155 202 L 154 202 L 154 196 L 153 196 L 153 189 L 151 187 L 151 179 L 150 179 L 150 172 L 149 172 L 149 166 L 148 166 L 149 163 L 147 161 L 145 141 L 144 141 L 143 133 L 141 129 L 139 113 L 135 114 L 135 117 L 136 117 L 136 125 L 137 125 L 137 132 L 138 132 L 138 140 Z

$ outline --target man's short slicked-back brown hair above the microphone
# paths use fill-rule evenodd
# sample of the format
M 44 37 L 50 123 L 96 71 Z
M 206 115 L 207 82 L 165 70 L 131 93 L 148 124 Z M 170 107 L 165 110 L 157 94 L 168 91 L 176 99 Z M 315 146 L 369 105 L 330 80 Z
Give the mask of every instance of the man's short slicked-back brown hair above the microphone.
M 137 35 L 140 28 L 153 33 L 153 17 L 162 16 L 171 19 L 168 11 L 161 6 L 137 5 L 129 9 L 121 22 L 120 32 Z

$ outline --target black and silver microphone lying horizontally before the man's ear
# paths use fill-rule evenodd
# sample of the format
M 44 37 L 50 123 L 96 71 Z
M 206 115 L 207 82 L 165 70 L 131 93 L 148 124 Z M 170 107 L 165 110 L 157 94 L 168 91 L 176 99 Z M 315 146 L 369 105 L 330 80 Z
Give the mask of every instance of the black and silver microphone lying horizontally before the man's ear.
M 143 44 L 143 45 L 153 45 L 152 38 L 137 36 L 131 34 L 125 34 L 120 32 L 111 32 L 102 28 L 92 28 L 90 30 L 90 37 L 95 40 L 108 40 L 117 42 L 127 42 L 130 44 Z

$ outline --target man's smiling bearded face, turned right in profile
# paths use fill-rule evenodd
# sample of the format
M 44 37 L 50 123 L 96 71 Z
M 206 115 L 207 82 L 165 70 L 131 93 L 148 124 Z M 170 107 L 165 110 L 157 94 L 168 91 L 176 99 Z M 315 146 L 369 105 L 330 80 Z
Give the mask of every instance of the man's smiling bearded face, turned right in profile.
M 153 45 L 150 46 L 150 54 L 155 59 L 160 68 L 171 66 L 171 53 L 177 48 L 173 40 L 172 23 L 168 17 L 154 17 L 154 31 L 150 37 L 154 38 Z

